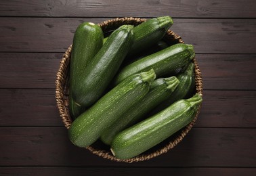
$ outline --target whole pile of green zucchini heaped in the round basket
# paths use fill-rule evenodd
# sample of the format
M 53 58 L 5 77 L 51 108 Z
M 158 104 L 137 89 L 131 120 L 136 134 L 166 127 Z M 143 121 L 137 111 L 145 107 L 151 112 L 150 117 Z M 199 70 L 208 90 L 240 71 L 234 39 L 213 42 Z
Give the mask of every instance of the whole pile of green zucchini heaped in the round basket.
M 87 147 L 100 139 L 116 158 L 142 154 L 194 118 L 194 47 L 164 41 L 169 16 L 123 25 L 104 38 L 83 22 L 74 33 L 70 60 L 68 137 Z

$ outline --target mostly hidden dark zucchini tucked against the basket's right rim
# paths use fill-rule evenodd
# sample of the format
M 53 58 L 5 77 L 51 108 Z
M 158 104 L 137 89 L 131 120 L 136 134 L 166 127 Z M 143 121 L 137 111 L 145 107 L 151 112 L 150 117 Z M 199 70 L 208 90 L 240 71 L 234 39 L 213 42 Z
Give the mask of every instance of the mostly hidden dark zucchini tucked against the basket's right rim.
M 184 72 L 177 74 L 177 79 L 179 80 L 179 85 L 177 86 L 177 89 L 175 89 L 175 91 L 171 94 L 171 97 L 154 108 L 150 114 L 156 114 L 177 100 L 191 97 L 196 87 L 194 78 L 194 63 L 190 62 Z

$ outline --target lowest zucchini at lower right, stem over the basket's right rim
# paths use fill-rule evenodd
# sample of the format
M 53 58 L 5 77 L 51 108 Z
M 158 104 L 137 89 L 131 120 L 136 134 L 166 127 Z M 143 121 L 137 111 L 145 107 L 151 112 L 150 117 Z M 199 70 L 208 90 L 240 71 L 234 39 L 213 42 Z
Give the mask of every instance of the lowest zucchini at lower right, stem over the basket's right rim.
M 196 93 L 188 100 L 179 100 L 114 137 L 111 151 L 116 158 L 128 159 L 142 154 L 182 129 L 194 118 L 202 97 Z

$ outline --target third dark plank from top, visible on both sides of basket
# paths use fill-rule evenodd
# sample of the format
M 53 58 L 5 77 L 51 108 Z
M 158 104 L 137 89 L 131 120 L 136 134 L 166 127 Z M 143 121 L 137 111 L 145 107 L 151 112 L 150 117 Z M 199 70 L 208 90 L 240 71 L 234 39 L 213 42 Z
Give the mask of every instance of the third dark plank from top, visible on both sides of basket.
M 0 88 L 55 89 L 62 53 L 1 53 Z M 204 89 L 255 90 L 255 54 L 197 54 Z

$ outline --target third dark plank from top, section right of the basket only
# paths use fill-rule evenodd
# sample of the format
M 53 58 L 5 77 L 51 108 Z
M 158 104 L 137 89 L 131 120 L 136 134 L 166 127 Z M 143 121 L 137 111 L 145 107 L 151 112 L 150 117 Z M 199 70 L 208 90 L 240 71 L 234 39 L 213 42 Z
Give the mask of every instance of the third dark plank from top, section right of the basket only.
M 197 54 L 196 58 L 204 89 L 255 90 L 255 54 Z

